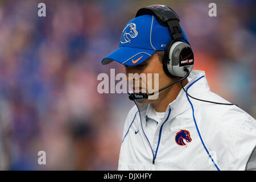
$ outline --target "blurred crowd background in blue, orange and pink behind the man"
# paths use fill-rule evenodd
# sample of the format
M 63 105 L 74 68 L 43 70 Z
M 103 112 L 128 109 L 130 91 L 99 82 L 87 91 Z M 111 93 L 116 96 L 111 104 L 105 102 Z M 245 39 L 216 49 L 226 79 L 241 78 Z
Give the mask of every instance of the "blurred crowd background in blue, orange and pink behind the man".
M 46 17 L 38 3 L 46 3 Z M 208 15 L 209 3 L 217 17 Z M 99 94 L 101 65 L 143 6 L 180 16 L 213 92 L 256 117 L 255 1 L 0 1 L 0 169 L 115 170 L 127 94 Z M 46 165 L 38 152 L 46 151 Z

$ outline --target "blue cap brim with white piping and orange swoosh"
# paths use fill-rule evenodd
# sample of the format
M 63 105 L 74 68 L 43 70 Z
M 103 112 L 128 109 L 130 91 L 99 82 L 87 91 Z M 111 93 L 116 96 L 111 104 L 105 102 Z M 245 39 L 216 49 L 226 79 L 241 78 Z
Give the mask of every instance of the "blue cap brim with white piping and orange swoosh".
M 112 61 L 117 61 L 123 65 L 138 65 L 152 56 L 156 50 L 152 49 L 140 49 L 133 47 L 119 47 L 110 55 L 106 56 L 101 63 L 106 65 Z

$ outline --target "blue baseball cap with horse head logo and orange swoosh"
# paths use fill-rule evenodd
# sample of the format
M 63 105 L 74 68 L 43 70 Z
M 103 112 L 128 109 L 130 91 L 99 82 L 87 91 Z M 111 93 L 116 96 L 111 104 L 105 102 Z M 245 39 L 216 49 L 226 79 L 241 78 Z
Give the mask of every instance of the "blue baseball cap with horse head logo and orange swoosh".
M 182 28 L 181 31 L 184 39 L 187 40 Z M 101 63 L 106 65 L 117 61 L 123 65 L 138 65 L 156 51 L 164 51 L 171 39 L 168 27 L 160 25 L 153 15 L 138 16 L 126 24 L 119 47 L 106 56 Z

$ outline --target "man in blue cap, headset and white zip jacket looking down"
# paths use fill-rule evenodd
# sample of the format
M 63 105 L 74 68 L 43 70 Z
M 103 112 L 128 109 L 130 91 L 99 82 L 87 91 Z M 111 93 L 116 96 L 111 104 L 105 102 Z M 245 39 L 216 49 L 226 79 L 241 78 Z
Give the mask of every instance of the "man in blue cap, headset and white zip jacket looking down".
M 169 27 L 162 26 L 162 12 L 167 9 L 168 16 L 176 16 L 163 5 L 150 6 L 145 11 L 150 10 L 149 14 L 137 13 L 138 16 L 125 26 L 119 48 L 102 60 L 102 64 L 114 60 L 125 65 L 127 77 L 129 73 L 158 73 L 159 88 L 183 79 L 155 92 L 158 93 L 155 98 L 146 97 L 152 96 L 147 88 L 147 94 L 143 95 L 142 86 L 133 87 L 133 92 L 139 94 L 131 93 L 134 98 L 129 97 L 135 100 L 135 105 L 129 111 L 123 128 L 118 169 L 255 169 L 255 119 L 210 92 L 203 71 L 191 71 L 192 67 L 188 65 L 193 64 L 192 53 L 187 52 L 184 56 L 180 51 L 182 48 L 175 49 L 178 44 L 184 44 L 185 49 L 189 49 L 184 31 L 181 28 L 179 32 L 182 35 L 176 36 L 174 34 L 179 32 L 170 34 L 172 23 L 169 22 Z M 179 30 L 177 23 L 176 26 Z M 179 43 L 172 42 L 172 39 L 178 38 Z M 176 44 L 176 47 L 172 48 L 171 44 Z M 167 56 L 167 63 L 166 49 L 171 54 Z M 175 71 L 175 65 L 169 65 L 172 58 L 175 60 L 172 53 L 175 55 L 176 52 L 179 52 L 177 57 L 180 60 L 176 68 L 185 68 L 181 70 L 182 74 Z M 191 64 L 184 66 L 186 57 L 186 63 Z M 142 83 L 141 79 L 133 81 Z

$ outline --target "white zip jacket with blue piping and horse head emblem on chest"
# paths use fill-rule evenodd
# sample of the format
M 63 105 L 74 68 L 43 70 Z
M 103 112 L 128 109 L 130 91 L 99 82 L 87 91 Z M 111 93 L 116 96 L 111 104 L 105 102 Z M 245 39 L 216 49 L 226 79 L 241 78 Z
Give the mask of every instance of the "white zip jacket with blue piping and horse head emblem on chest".
M 230 103 L 210 92 L 203 71 L 192 71 L 188 81 L 184 88 L 191 96 Z M 118 170 L 245 170 L 256 145 L 256 121 L 239 107 L 197 101 L 181 89 L 152 146 L 143 130 L 146 108 L 135 102 L 127 115 Z

